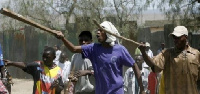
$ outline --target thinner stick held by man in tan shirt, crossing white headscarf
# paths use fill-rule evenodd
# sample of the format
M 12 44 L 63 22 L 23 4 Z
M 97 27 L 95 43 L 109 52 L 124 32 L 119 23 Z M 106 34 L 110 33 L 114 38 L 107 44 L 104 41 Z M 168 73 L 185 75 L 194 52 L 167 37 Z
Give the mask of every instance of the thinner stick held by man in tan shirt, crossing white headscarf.
M 133 41 L 133 40 L 131 40 L 131 39 L 128 39 L 128 38 L 119 36 L 119 35 L 117 35 L 117 34 L 114 34 L 114 33 L 111 33 L 111 32 L 109 32 L 109 31 L 105 30 L 103 27 L 100 26 L 100 24 L 97 23 L 96 20 L 93 20 L 93 22 L 94 22 L 94 24 L 97 25 L 100 29 L 102 29 L 103 31 L 105 31 L 106 33 L 108 33 L 108 34 L 110 34 L 110 35 L 113 35 L 113 36 L 115 36 L 115 37 L 117 37 L 117 38 L 120 38 L 120 39 L 129 41 L 129 42 L 132 42 L 132 43 L 134 43 L 134 44 L 136 44 L 136 45 L 138 45 L 138 46 L 140 45 L 140 43 L 138 43 L 138 42 L 135 42 L 135 41 Z

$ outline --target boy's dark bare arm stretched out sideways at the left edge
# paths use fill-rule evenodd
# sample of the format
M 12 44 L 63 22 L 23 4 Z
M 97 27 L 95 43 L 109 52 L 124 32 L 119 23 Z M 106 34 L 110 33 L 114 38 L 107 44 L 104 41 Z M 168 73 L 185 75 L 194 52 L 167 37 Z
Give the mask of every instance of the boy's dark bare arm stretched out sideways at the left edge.
M 20 69 L 24 69 L 26 67 L 26 64 L 24 62 L 14 62 L 10 60 L 3 60 L 5 62 L 6 66 L 15 66 Z

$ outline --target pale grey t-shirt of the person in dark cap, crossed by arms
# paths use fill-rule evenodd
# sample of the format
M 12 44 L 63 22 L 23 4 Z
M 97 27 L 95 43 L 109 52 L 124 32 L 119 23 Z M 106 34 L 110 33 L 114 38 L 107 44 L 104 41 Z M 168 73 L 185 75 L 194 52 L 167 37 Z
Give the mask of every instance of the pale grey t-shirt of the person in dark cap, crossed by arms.
M 87 58 L 82 58 L 82 54 L 76 53 L 72 56 L 71 71 L 77 70 L 91 70 L 92 63 Z M 94 90 L 95 79 L 94 76 L 81 76 L 75 84 L 75 93 L 77 92 L 91 92 Z

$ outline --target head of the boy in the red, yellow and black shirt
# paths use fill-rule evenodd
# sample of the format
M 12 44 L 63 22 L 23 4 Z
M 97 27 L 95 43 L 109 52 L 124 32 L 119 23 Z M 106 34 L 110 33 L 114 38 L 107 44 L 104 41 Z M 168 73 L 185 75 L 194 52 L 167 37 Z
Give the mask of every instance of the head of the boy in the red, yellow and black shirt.
M 46 66 L 51 67 L 53 64 L 53 60 L 55 59 L 55 55 L 53 55 L 51 51 L 44 51 L 42 59 Z

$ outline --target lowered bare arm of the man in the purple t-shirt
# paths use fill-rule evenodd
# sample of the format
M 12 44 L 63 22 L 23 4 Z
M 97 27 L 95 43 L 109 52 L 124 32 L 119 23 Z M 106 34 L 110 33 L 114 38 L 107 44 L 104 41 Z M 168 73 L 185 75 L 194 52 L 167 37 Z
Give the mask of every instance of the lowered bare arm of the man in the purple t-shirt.
M 140 86 L 140 94 L 144 94 L 144 86 L 142 84 L 142 76 L 141 76 L 140 70 L 139 70 L 136 63 L 132 66 L 132 68 L 133 68 L 133 71 L 134 71 L 135 76 L 137 78 L 138 84 Z

